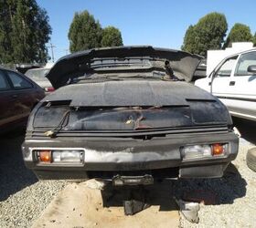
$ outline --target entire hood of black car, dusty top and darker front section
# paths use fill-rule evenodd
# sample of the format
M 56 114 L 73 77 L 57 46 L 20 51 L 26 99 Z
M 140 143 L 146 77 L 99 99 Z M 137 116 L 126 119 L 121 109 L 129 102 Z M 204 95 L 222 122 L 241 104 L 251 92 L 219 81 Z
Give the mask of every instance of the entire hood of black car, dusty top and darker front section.
M 229 112 L 218 98 L 183 81 L 123 80 L 68 85 L 49 94 L 38 108 L 34 128 L 54 129 L 63 119 L 69 119 L 65 130 L 231 124 Z

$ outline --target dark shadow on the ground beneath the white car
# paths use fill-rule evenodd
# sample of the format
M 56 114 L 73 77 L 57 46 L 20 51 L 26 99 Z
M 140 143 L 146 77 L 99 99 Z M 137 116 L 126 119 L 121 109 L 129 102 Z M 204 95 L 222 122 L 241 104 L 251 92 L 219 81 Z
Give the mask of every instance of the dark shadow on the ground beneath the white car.
M 256 145 L 256 122 L 234 117 L 232 119 L 234 126 L 240 131 L 241 138 Z

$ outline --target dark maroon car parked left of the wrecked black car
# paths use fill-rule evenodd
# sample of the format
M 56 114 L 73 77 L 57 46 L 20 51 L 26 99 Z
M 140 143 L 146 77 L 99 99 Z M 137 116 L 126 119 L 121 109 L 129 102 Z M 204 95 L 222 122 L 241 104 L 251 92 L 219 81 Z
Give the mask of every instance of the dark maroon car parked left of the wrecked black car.
M 44 97 L 43 89 L 35 82 L 0 67 L 0 132 L 25 126 L 31 109 Z

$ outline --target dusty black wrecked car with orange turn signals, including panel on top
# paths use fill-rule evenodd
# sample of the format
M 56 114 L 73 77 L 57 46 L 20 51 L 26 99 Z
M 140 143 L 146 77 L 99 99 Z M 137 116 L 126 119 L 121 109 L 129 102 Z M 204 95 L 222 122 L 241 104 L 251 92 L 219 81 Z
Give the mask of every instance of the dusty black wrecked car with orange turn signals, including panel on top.
M 23 156 L 39 179 L 221 177 L 238 153 L 228 109 L 188 83 L 201 57 L 109 47 L 62 57 L 30 114 Z

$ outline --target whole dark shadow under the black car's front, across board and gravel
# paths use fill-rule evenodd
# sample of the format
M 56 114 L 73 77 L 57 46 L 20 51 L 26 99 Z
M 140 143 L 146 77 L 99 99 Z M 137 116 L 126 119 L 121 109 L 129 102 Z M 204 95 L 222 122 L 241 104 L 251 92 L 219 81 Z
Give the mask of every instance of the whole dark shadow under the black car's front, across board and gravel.
M 247 182 L 241 177 L 237 168 L 230 163 L 222 178 L 218 179 L 180 179 L 173 181 L 155 182 L 154 185 L 144 187 L 145 202 L 151 205 L 159 205 L 159 211 L 175 211 L 176 203 L 170 201 L 174 196 L 176 199 L 187 198 L 200 199 L 208 205 L 232 204 L 236 199 L 246 195 Z M 133 187 L 132 198 L 140 200 L 140 189 Z M 193 196 L 194 195 L 194 196 Z M 129 199 L 131 193 L 125 187 L 108 189 L 101 192 L 103 206 L 122 206 L 123 200 Z M 189 200 L 187 200 L 189 201 Z M 190 200 L 193 202 L 193 200 Z M 196 201 L 194 201 L 196 202 Z

